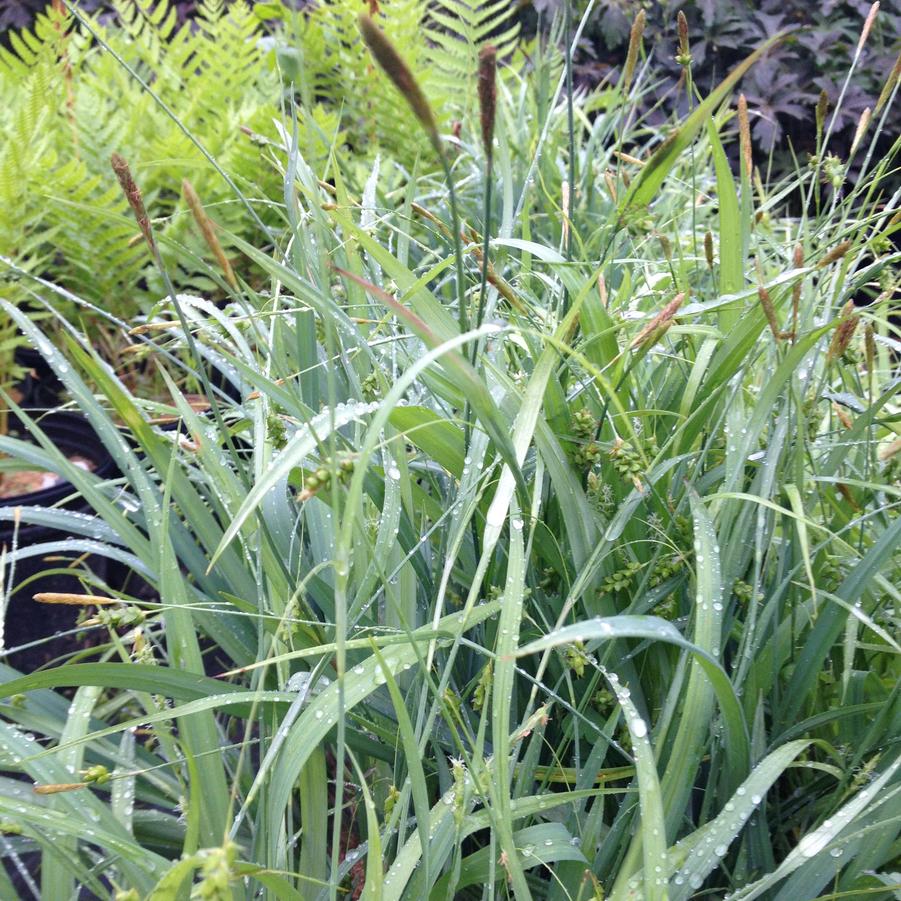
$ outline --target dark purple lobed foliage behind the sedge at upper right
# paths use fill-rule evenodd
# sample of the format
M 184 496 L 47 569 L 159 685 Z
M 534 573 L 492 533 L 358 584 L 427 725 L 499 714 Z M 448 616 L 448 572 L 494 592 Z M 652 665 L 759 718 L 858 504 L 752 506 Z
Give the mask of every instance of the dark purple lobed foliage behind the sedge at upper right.
M 538 17 L 552 16 L 563 0 L 534 0 Z M 579 0 L 584 11 L 586 0 Z M 790 168 L 790 153 L 809 151 L 814 143 L 814 107 L 826 91 L 830 108 L 838 99 L 851 64 L 870 0 L 688 0 L 684 3 L 643 0 L 601 0 L 585 29 L 574 61 L 576 77 L 584 85 L 619 75 L 629 30 L 639 9 L 647 15 L 645 46 L 659 78 L 647 108 L 653 123 L 663 121 L 675 103 L 684 104 L 684 91 L 675 91 L 680 67 L 676 53 L 676 15 L 681 10 L 691 34 L 692 76 L 706 94 L 729 69 L 761 41 L 791 30 L 791 36 L 761 60 L 742 81 L 752 117 L 757 149 L 773 152 L 777 168 Z M 574 14 L 575 18 L 575 14 Z M 533 27 L 537 26 L 532 15 Z M 873 31 L 848 86 L 833 126 L 837 153 L 850 146 L 863 111 L 872 108 L 901 50 L 901 0 L 883 0 Z M 662 101 L 662 102 L 661 102 Z M 895 109 L 885 129 L 887 139 L 898 134 L 901 113 Z

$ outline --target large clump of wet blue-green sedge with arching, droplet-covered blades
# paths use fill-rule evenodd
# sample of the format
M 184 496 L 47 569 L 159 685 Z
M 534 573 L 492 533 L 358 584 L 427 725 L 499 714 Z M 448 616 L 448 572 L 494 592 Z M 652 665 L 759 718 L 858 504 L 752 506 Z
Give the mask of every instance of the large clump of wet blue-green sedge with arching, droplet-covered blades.
M 210 231 L 257 273 L 234 304 L 128 323 L 168 423 L 61 323 L 119 475 L 24 411 L 0 438 L 93 511 L 19 510 L 70 537 L 3 567 L 114 600 L 90 650 L 0 673 L 0 853 L 43 896 L 892 897 L 893 163 L 768 184 L 749 104 L 730 130 L 753 60 L 664 135 L 634 55 L 569 97 L 552 45 L 505 59 L 492 140 L 483 99 L 413 168 L 286 143 L 274 247 Z

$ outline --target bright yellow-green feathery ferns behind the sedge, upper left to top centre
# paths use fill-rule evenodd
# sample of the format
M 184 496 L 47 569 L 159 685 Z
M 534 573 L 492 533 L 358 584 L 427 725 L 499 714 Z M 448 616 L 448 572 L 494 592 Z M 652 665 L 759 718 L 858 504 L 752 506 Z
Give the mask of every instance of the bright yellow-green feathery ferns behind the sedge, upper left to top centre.
M 336 141 L 363 160 L 379 152 L 402 166 L 430 158 L 360 39 L 360 0 L 304 14 L 283 7 L 281 50 L 262 40 L 263 23 L 245 0 L 202 0 L 192 25 L 182 26 L 170 0 L 114 0 L 114 9 L 114 23 L 95 17 L 89 27 L 48 9 L 0 50 L 0 254 L 115 315 L 146 311 L 163 285 L 134 240 L 110 171 L 114 152 L 131 165 L 177 283 L 205 290 L 209 252 L 182 200 L 184 178 L 223 229 L 257 243 L 272 238 L 258 233 L 197 142 L 276 231 L 284 154 L 271 148 L 284 143 L 277 123 L 293 115 L 294 101 L 301 147 L 315 165 Z M 377 18 L 446 131 L 471 114 L 480 47 L 491 42 L 504 56 L 518 35 L 512 0 L 382 0 Z M 279 65 L 286 49 L 292 71 Z

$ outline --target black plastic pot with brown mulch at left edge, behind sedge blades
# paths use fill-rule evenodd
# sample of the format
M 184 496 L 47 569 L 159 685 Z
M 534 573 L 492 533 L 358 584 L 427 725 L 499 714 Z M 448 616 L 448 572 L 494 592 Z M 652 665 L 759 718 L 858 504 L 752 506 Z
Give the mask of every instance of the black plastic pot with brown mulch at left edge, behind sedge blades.
M 38 424 L 63 453 L 77 454 L 90 460 L 94 464 L 95 475 L 102 478 L 115 476 L 116 467 L 112 458 L 86 419 L 75 413 L 51 413 L 42 417 Z M 21 435 L 27 438 L 22 424 L 15 417 L 10 418 L 9 431 L 17 437 Z M 74 489 L 70 482 L 60 482 L 40 491 L 0 498 L 0 508 L 62 506 L 69 510 L 88 512 L 89 508 L 81 498 L 71 498 L 73 492 Z M 13 522 L 8 519 L 0 520 L 0 546 L 5 546 L 9 550 L 12 547 L 13 534 Z M 22 524 L 16 535 L 16 546 L 26 548 L 47 541 L 63 541 L 70 537 L 72 536 L 58 529 Z M 97 576 L 106 578 L 106 558 L 91 556 L 87 559 L 86 564 Z M 37 578 L 28 581 L 24 588 L 19 588 L 10 596 L 6 610 L 4 644 L 7 648 L 36 641 L 40 641 L 40 644 L 8 655 L 6 662 L 10 666 L 29 672 L 61 654 L 77 649 L 74 636 L 59 638 L 54 636 L 58 632 L 64 632 L 75 626 L 79 608 L 38 604 L 32 599 L 33 595 L 41 592 L 80 593 L 82 591 L 75 575 L 56 573 L 40 575 L 47 569 L 59 569 L 64 566 L 65 563 L 47 562 L 41 554 L 26 557 L 16 563 L 16 586 L 21 585 L 32 576 L 37 576 Z M 45 641 L 45 639 L 50 640 Z

